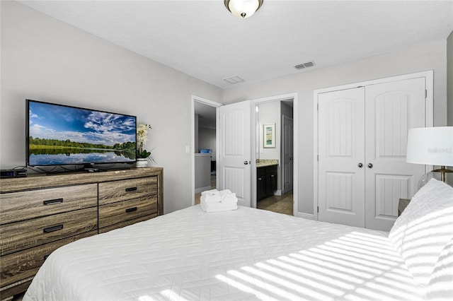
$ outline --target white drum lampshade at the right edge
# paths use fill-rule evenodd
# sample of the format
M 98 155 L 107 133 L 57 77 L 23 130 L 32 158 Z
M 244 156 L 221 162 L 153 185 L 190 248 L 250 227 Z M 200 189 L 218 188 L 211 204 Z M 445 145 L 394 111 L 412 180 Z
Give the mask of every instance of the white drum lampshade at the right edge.
M 453 126 L 409 129 L 406 162 L 453 166 Z

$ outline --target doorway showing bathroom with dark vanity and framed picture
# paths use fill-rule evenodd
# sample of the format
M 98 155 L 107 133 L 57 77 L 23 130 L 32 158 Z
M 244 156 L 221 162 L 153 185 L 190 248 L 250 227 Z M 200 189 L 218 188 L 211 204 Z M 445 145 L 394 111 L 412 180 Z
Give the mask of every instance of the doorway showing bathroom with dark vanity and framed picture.
M 266 98 L 255 105 L 255 162 L 253 183 L 256 187 L 252 206 L 258 209 L 296 215 L 297 204 L 293 193 L 294 182 L 294 99 Z M 265 130 L 275 128 L 275 143 L 267 146 Z M 270 164 L 270 165 L 269 165 Z M 264 167 L 263 167 L 264 166 Z M 276 184 L 269 191 L 273 177 Z M 266 194 L 263 194 L 266 190 Z M 270 192 L 270 193 L 268 193 Z

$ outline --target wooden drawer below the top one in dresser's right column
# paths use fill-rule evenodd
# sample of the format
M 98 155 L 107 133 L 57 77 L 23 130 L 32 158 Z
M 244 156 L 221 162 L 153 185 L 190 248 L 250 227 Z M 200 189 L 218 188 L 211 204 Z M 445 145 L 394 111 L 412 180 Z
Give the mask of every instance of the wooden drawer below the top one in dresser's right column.
M 157 196 L 144 196 L 99 206 L 99 228 L 157 214 Z

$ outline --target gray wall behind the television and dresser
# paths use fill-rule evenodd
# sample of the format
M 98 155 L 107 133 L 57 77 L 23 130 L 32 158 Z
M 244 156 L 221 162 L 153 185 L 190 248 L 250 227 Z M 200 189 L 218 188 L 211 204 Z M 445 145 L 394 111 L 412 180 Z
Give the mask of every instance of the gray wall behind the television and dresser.
M 0 5 L 1 168 L 25 165 L 25 98 L 137 115 L 153 126 L 164 212 L 190 206 L 191 96 L 220 102 L 222 90 L 16 1 Z

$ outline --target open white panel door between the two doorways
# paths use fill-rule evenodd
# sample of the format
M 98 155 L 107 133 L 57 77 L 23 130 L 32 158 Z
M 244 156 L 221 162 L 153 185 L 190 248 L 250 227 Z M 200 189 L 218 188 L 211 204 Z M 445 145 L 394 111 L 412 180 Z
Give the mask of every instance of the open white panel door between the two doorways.
M 251 206 L 251 101 L 217 108 L 217 189 Z

